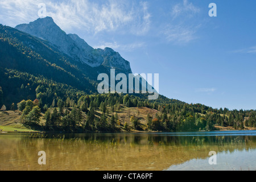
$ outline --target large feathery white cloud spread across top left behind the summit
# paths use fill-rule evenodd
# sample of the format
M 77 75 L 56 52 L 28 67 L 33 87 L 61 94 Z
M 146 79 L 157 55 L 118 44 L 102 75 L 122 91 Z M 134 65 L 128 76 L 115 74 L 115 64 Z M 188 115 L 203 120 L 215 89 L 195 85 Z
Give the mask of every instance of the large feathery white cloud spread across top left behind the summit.
M 124 0 L 1 0 L 0 20 L 8 20 L 10 26 L 35 20 L 39 3 L 46 4 L 46 15 L 66 31 L 77 28 L 93 34 L 118 31 L 142 35 L 150 28 L 147 2 Z

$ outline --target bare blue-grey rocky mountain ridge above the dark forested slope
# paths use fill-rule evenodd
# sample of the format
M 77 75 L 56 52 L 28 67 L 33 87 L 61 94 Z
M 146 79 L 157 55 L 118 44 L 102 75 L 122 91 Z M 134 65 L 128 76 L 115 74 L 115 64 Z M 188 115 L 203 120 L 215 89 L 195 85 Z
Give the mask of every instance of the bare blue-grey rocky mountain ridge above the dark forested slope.
M 111 48 L 94 49 L 76 34 L 66 34 L 51 17 L 39 18 L 29 24 L 15 27 L 19 31 L 47 40 L 51 46 L 72 57 L 76 61 L 88 64 L 90 67 L 104 66 L 118 69 L 125 74 L 132 73 L 129 61 L 126 61 Z

